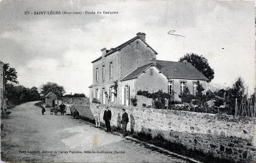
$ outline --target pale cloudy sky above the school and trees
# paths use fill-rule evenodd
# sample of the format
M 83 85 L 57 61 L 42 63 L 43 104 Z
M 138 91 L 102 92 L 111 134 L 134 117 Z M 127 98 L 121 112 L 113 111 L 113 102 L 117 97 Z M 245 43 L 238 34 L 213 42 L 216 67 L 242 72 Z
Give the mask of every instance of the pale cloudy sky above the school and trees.
M 66 93 L 85 93 L 91 61 L 136 36 L 157 59 L 178 61 L 194 52 L 214 69 L 213 84 L 231 86 L 238 76 L 255 86 L 254 1 L 1 1 L 0 59 L 25 87 L 48 81 Z M 25 15 L 35 11 L 116 11 L 101 15 Z M 171 30 L 172 36 L 167 33 Z

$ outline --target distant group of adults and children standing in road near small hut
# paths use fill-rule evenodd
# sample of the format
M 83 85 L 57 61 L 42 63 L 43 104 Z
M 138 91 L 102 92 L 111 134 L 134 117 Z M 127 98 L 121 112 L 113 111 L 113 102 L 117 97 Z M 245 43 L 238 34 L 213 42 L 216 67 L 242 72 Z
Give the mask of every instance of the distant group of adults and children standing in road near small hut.
M 46 107 L 46 105 L 45 105 L 45 103 L 43 103 L 43 104 L 41 105 L 41 108 L 42 108 L 42 115 L 45 115 L 45 114 L 44 114 L 44 112 L 46 112 L 45 107 Z M 71 114 L 69 102 L 68 102 L 67 106 L 64 105 L 63 102 L 62 102 L 62 103 L 59 105 L 59 108 L 60 108 L 60 113 L 61 113 L 61 115 L 64 115 L 64 110 L 65 110 L 65 108 L 66 108 L 66 115 L 70 115 L 70 114 Z M 50 110 L 50 115 L 53 115 L 53 112 L 54 112 L 55 115 L 57 115 L 57 113 L 58 113 L 58 105 L 57 105 L 57 104 L 55 104 L 54 108 L 51 108 L 51 110 Z

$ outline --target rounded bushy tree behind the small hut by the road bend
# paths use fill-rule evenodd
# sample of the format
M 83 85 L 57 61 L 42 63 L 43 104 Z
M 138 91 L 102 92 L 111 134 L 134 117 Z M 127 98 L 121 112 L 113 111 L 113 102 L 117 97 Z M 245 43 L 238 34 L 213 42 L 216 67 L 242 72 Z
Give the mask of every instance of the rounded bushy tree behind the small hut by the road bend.
M 40 93 L 46 96 L 49 92 L 53 92 L 57 95 L 57 97 L 61 97 L 66 91 L 63 86 L 58 85 L 54 82 L 47 82 L 46 84 L 42 84 L 40 88 Z

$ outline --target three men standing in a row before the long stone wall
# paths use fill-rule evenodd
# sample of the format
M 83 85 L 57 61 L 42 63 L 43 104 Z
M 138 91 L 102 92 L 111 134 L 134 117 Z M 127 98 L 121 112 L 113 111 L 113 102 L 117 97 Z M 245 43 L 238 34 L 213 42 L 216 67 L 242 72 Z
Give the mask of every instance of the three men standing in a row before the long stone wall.
M 106 125 L 106 132 L 112 132 L 111 131 L 111 126 L 110 126 L 110 121 L 111 121 L 111 111 L 108 109 L 108 107 L 105 108 L 106 110 L 104 111 L 103 115 L 103 121 L 105 122 Z M 127 123 L 129 122 L 128 114 L 125 112 L 125 109 L 122 109 L 123 115 L 122 115 L 122 128 L 123 128 L 123 136 L 126 136 L 126 127 Z M 100 127 L 100 113 L 101 110 L 99 109 L 99 105 L 96 105 L 96 109 L 94 111 L 94 118 L 95 118 L 95 123 L 96 123 L 96 128 Z

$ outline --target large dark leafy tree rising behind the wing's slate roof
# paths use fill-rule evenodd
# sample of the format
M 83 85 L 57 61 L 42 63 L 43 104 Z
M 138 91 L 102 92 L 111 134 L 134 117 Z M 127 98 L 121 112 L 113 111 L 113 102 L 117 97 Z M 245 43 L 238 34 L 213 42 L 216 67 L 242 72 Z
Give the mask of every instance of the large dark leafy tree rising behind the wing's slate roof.
M 180 57 L 179 62 L 182 62 L 183 60 L 187 60 L 206 78 L 208 78 L 208 83 L 214 78 L 214 71 L 209 66 L 208 60 L 203 55 L 199 56 L 196 53 L 187 53 L 183 57 Z

